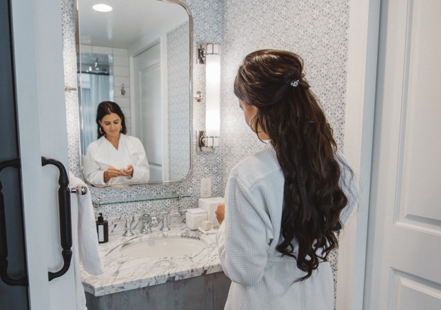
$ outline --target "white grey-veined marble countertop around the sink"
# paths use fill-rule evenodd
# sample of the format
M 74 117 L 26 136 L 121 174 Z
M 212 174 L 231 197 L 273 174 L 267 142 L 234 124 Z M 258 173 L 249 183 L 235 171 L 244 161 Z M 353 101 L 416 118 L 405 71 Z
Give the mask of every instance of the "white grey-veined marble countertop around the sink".
M 119 291 L 127 291 L 157 285 L 167 281 L 181 280 L 222 271 L 219 262 L 216 235 L 205 235 L 200 231 L 188 229 L 185 224 L 170 225 L 170 231 L 163 232 L 160 227 L 153 227 L 152 234 L 109 236 L 109 242 L 99 245 L 104 273 L 92 276 L 81 267 L 81 280 L 85 291 L 94 296 L 103 296 Z M 185 237 L 207 242 L 207 248 L 189 256 L 176 258 L 129 258 L 121 253 L 121 248 L 134 242 L 150 238 Z

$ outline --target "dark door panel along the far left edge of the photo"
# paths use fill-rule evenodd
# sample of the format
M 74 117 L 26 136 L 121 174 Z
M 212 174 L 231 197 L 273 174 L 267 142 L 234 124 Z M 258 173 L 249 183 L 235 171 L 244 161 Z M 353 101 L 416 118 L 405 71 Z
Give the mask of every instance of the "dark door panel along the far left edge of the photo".
M 0 229 L 2 239 L 1 265 L 8 260 L 6 275 L 0 280 L 1 309 L 29 309 L 26 272 L 25 243 L 23 236 L 23 208 L 21 203 L 20 172 L 7 161 L 19 157 L 17 122 L 14 100 L 14 72 L 12 42 L 10 37 L 10 6 L 8 0 L 0 1 Z M 6 226 L 6 223 L 8 225 Z M 9 246 L 8 246 L 9 245 Z M 6 279 L 3 280 L 3 277 Z M 9 281 L 8 279 L 12 281 Z

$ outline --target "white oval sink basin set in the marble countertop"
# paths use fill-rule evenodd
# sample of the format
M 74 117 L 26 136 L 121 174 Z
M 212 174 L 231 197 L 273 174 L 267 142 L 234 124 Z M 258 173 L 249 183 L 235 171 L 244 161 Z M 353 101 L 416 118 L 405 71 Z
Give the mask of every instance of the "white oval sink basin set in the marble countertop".
M 121 253 L 131 258 L 164 258 L 194 255 L 205 249 L 207 244 L 192 238 L 156 238 L 125 245 Z

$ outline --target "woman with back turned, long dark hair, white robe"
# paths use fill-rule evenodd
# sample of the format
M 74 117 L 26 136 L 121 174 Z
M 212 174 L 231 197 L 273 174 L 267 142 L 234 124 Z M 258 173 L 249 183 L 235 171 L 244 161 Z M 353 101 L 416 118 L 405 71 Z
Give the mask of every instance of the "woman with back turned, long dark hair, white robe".
M 232 280 L 225 309 L 333 310 L 329 251 L 356 203 L 356 181 L 290 52 L 245 57 L 234 92 L 262 151 L 229 175 L 216 234 Z

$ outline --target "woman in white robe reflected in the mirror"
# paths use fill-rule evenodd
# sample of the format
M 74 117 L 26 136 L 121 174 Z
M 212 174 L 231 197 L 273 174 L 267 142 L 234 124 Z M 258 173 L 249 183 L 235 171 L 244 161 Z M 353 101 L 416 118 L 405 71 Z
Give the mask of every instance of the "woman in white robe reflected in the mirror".
M 150 167 L 143 144 L 127 136 L 125 117 L 119 105 L 103 101 L 96 111 L 98 139 L 88 146 L 84 172 L 96 185 L 143 183 L 150 178 Z

